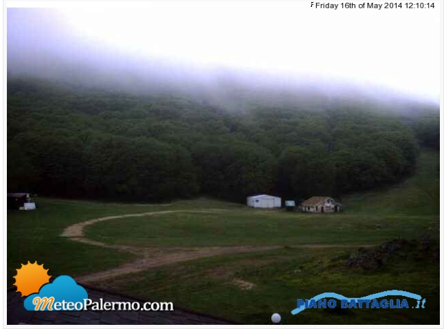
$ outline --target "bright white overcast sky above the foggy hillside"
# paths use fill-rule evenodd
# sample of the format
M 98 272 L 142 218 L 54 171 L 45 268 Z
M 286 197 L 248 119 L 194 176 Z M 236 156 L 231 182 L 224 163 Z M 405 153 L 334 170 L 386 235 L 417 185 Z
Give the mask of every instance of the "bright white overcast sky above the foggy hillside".
M 309 2 L 289 1 L 9 8 L 8 70 L 14 63 L 49 69 L 54 56 L 81 65 L 102 53 L 129 66 L 161 60 L 375 84 L 438 103 L 435 4 L 434 10 L 313 10 Z

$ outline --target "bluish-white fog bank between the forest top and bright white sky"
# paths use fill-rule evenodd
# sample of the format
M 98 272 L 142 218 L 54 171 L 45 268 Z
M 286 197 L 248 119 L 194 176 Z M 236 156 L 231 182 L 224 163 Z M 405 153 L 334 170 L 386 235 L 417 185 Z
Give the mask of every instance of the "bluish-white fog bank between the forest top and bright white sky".
M 298 61 L 294 60 L 295 65 L 302 65 Z M 79 34 L 75 26 L 63 21 L 63 15 L 52 10 L 8 9 L 7 64 L 10 78 L 40 78 L 129 94 L 177 95 L 230 111 L 258 104 L 319 110 L 353 103 L 415 114 L 437 107 L 430 100 L 365 81 L 325 78 L 316 72 L 295 74 L 210 65 L 181 56 L 161 58 L 113 47 Z

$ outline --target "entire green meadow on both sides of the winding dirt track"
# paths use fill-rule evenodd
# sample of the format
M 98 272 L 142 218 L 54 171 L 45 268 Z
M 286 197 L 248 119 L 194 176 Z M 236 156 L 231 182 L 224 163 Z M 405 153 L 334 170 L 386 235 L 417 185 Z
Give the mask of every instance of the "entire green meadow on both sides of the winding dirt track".
M 152 268 L 98 283 L 151 300 L 173 301 L 242 323 L 439 323 L 439 262 L 431 255 L 395 255 L 376 270 L 350 268 L 359 244 L 427 237 L 439 242 L 439 153 L 423 150 L 417 172 L 402 184 L 348 195 L 344 212 L 302 214 L 258 211 L 217 200 L 161 204 L 115 204 L 38 198 L 38 210 L 8 211 L 8 286 L 28 260 L 51 275 L 84 275 L 114 268 L 135 255 L 60 237 L 76 222 L 107 215 L 164 210 L 224 209 L 217 213 L 170 213 L 98 222 L 86 236 L 107 244 L 159 248 L 282 246 L 269 251 L 221 255 Z M 335 244 L 332 248 L 308 248 Z M 431 247 L 431 248 L 432 248 Z M 296 299 L 333 291 L 359 297 L 382 290 L 407 290 L 427 299 L 425 309 L 304 310 L 292 316 Z

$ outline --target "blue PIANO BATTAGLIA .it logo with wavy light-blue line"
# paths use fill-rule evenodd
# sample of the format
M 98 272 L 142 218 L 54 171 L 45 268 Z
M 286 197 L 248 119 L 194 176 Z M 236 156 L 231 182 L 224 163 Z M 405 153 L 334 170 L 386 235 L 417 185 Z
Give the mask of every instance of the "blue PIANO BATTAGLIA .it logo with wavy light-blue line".
M 348 298 L 337 293 L 322 293 L 311 299 L 298 299 L 297 307 L 291 311 L 292 315 L 306 310 L 307 308 L 336 308 L 339 299 L 340 308 L 410 308 L 407 299 L 381 299 L 386 296 L 401 296 L 417 299 L 412 308 L 425 308 L 425 299 L 420 295 L 403 290 L 386 290 L 365 297 Z M 329 299 L 328 299 L 329 298 Z

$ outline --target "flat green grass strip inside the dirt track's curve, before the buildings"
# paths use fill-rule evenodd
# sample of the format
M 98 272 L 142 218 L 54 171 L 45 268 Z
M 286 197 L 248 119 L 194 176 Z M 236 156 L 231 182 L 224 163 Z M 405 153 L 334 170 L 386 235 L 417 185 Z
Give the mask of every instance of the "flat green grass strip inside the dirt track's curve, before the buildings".
M 436 216 L 307 215 L 283 211 L 174 213 L 100 222 L 87 237 L 133 246 L 375 244 L 418 233 L 438 237 Z M 247 233 L 247 234 L 245 234 Z

